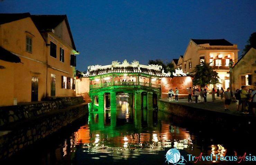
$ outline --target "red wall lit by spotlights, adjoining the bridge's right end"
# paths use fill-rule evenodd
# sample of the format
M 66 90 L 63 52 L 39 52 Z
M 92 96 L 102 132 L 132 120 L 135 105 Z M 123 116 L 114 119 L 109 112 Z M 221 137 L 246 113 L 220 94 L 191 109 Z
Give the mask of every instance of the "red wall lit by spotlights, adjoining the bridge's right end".
M 179 98 L 188 97 L 188 92 L 186 88 L 193 87 L 192 78 L 189 76 L 185 77 L 163 77 L 161 81 L 162 99 L 168 98 L 168 91 L 170 89 L 178 88 Z M 175 93 L 175 92 L 174 92 Z

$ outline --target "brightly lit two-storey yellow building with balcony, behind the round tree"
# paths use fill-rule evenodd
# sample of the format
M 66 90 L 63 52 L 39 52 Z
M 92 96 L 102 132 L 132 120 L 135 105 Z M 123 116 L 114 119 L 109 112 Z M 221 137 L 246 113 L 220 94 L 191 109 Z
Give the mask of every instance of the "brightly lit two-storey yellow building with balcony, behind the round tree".
M 190 39 L 184 56 L 179 58 L 176 67 L 182 68 L 184 73 L 194 74 L 193 70 L 201 62 L 210 63 L 219 75 L 220 84 L 217 87 L 227 89 L 229 87 L 229 61 L 233 66 L 238 61 L 238 49 L 236 44 L 231 44 L 225 39 Z M 213 85 L 209 86 L 210 89 Z

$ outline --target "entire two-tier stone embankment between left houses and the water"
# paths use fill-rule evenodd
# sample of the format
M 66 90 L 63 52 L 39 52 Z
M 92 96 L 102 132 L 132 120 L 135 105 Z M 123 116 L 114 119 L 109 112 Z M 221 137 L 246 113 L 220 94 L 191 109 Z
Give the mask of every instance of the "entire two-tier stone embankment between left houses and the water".
M 88 113 L 83 97 L 0 107 L 0 159 L 53 134 Z

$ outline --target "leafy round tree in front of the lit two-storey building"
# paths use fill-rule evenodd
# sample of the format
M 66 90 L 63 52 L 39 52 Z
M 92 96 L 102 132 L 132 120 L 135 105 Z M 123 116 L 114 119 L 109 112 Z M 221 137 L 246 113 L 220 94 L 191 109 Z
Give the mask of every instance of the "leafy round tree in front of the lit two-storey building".
M 200 85 L 202 87 L 205 84 L 219 84 L 218 73 L 213 71 L 209 63 L 196 65 L 193 72 L 195 72 L 194 75 L 191 75 L 194 78 L 193 85 Z

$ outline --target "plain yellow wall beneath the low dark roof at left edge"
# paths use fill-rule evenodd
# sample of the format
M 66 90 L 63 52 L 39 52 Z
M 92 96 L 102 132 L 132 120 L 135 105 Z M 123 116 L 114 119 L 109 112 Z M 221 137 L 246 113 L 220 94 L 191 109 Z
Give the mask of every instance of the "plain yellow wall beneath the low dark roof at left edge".
M 0 106 L 13 105 L 13 65 L 0 60 Z

